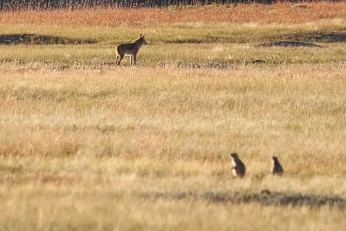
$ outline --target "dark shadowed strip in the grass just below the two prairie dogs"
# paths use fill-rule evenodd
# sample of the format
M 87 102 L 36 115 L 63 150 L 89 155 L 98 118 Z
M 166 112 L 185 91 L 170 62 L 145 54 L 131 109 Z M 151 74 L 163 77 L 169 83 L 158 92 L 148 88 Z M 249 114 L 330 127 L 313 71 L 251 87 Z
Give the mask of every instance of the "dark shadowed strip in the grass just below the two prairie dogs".
M 341 210 L 346 209 L 346 199 L 340 196 L 325 196 L 316 194 L 299 194 L 286 192 L 269 192 L 264 190 L 259 193 L 243 192 L 140 192 L 134 196 L 141 198 L 166 198 L 166 199 L 199 199 L 209 203 L 260 203 L 262 205 L 291 205 L 320 207 L 327 205 L 337 207 Z

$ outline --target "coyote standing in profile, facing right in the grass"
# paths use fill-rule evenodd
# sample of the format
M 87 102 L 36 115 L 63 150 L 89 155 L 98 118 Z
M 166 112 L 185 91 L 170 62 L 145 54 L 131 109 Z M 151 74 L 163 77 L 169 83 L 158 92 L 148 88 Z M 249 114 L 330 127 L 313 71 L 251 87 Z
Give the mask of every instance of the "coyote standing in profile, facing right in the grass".
M 144 35 L 140 34 L 138 38 L 129 44 L 119 44 L 116 46 L 116 64 L 120 65 L 120 62 L 124 55 L 130 56 L 130 65 L 132 62 L 136 64 L 136 56 L 140 46 L 147 45 L 147 41 L 144 39 Z

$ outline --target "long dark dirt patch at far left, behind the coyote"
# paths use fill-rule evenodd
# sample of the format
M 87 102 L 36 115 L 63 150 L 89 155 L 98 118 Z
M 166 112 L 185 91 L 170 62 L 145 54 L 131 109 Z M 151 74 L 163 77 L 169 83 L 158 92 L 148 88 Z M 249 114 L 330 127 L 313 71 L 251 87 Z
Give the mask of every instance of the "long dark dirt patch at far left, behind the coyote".
M 91 39 L 70 39 L 51 35 L 10 34 L 0 35 L 0 45 L 11 44 L 93 44 Z

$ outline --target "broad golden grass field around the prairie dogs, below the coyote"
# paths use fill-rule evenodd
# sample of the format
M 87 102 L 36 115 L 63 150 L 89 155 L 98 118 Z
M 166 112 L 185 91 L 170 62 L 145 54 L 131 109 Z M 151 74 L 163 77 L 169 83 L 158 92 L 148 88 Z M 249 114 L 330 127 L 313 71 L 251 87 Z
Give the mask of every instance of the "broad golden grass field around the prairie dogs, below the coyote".
M 344 73 L 1 66 L 0 227 L 338 230 L 345 208 L 312 198 L 346 196 Z M 229 151 L 245 178 L 230 176 Z M 283 177 L 271 176 L 271 155 Z M 228 201 L 262 190 L 302 205 Z

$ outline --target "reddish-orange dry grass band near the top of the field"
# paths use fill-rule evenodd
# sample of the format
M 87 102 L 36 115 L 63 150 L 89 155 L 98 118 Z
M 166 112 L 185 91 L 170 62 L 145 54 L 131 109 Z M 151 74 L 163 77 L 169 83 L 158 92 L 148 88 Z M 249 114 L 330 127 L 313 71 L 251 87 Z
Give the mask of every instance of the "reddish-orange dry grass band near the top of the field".
M 199 23 L 304 23 L 319 19 L 346 19 L 345 3 L 309 3 L 294 8 L 292 3 L 239 4 L 139 9 L 96 9 L 0 12 L 1 24 L 60 24 L 73 26 L 119 26 L 179 22 Z

